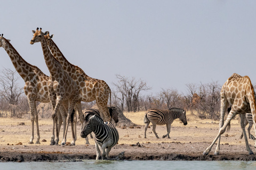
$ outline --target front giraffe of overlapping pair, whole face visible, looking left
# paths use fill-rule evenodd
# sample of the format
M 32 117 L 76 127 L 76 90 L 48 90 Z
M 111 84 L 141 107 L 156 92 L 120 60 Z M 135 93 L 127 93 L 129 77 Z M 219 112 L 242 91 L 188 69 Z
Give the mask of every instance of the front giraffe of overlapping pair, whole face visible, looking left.
M 71 131 L 73 140 L 71 145 L 75 145 L 76 137 L 74 134 L 74 106 L 78 103 L 78 88 L 76 82 L 71 79 L 65 70 L 63 70 L 61 64 L 52 56 L 50 49 L 47 47 L 46 39 L 44 35 L 47 32 L 42 32 L 42 28 L 37 28 L 36 31 L 32 31 L 33 38 L 30 40 L 30 44 L 41 42 L 44 60 L 46 66 L 50 72 L 50 78 L 48 81 L 48 91 L 49 91 L 49 98 L 51 100 L 52 106 L 54 108 L 54 112 L 52 114 L 53 117 L 53 126 L 56 122 L 56 115 L 61 103 L 65 106 L 66 110 L 68 110 L 68 117 L 66 121 L 66 129 L 65 135 L 61 142 L 61 145 L 66 144 L 67 132 L 68 132 L 68 124 L 71 121 Z M 55 97 L 56 96 L 56 97 Z M 56 99 L 56 100 L 55 100 Z M 72 117 L 71 117 L 72 116 Z

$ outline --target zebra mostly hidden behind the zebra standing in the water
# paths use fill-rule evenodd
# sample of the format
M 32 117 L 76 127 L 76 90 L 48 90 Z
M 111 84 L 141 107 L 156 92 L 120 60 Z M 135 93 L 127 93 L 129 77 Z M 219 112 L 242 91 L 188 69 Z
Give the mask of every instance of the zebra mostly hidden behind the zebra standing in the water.
M 118 123 L 119 120 L 118 120 L 118 112 L 116 110 L 116 107 L 112 106 L 112 107 L 108 107 L 108 109 L 109 109 L 110 117 L 113 118 L 115 123 Z M 100 117 L 99 110 L 94 109 L 94 108 L 85 108 L 85 109 L 83 109 L 83 117 L 84 118 L 87 114 L 97 115 L 97 116 Z M 92 133 L 90 133 L 90 137 L 93 138 Z M 86 140 L 85 144 L 90 144 L 88 137 L 86 137 L 85 140 Z

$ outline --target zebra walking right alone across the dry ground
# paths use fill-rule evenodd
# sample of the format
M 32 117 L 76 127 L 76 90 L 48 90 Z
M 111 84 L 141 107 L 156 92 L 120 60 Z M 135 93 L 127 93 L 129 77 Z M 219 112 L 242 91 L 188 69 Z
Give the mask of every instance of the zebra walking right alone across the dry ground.
M 163 125 L 166 124 L 167 128 L 167 134 L 163 135 L 163 138 L 167 137 L 170 138 L 170 130 L 171 130 L 171 124 L 172 122 L 176 119 L 179 118 L 180 121 L 184 124 L 187 125 L 187 118 L 186 118 L 186 111 L 181 109 L 181 108 L 170 108 L 166 110 L 161 110 L 161 109 L 154 109 L 151 108 L 146 111 L 145 116 L 144 116 L 144 123 L 146 124 L 145 126 L 145 136 L 146 137 L 146 131 L 148 129 L 148 125 L 151 122 L 153 124 L 153 132 L 156 135 L 156 138 L 159 139 L 158 135 L 156 134 L 156 125 Z

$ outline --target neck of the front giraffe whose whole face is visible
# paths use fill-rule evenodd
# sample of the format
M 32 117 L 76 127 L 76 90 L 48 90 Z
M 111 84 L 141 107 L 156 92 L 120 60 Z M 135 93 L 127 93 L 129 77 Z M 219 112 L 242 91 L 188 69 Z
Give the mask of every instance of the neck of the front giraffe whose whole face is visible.
M 51 54 L 50 49 L 47 46 L 46 40 L 43 37 L 41 40 L 41 45 L 44 54 L 44 60 L 48 67 L 51 77 L 58 77 L 63 72 L 61 64 L 54 58 Z

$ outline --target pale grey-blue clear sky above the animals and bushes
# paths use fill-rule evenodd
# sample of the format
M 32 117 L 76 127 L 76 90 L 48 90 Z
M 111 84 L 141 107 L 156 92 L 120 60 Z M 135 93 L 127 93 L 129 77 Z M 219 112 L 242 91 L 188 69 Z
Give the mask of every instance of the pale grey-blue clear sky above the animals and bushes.
M 111 89 L 116 74 L 152 87 L 221 85 L 233 74 L 256 83 L 256 1 L 4 1 L 0 33 L 30 64 L 47 70 L 31 30 L 54 34 L 67 60 Z M 0 49 L 0 69 L 14 70 Z M 23 80 L 21 79 L 21 87 Z

